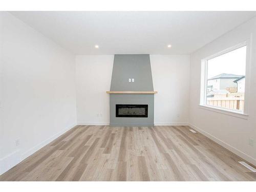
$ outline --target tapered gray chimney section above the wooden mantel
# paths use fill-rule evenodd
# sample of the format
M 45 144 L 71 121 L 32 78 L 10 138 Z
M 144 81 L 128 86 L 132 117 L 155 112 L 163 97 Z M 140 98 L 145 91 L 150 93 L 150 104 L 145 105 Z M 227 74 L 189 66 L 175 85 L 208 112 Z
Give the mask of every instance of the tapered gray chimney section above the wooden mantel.
M 110 91 L 153 90 L 150 55 L 115 55 Z

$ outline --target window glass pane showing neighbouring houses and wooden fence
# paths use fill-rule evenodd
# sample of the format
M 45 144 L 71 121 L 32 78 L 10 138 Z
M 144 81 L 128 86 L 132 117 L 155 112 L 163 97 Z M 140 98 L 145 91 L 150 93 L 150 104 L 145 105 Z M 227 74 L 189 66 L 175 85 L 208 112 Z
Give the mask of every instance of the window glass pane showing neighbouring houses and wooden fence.
M 244 111 L 246 46 L 207 62 L 206 104 Z

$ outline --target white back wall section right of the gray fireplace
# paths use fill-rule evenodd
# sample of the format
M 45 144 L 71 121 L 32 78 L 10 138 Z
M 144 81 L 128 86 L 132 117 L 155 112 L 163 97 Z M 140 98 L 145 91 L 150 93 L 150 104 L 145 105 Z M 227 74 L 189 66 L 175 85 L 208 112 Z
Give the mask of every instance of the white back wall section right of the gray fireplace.
M 155 125 L 188 122 L 189 55 L 150 55 L 155 94 Z

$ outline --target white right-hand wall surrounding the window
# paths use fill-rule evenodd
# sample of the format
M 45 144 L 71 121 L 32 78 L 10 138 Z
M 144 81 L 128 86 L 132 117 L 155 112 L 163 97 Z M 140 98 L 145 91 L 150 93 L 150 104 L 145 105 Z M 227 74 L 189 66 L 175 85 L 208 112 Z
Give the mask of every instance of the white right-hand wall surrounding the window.
M 210 44 L 191 54 L 189 123 L 195 129 L 214 139 L 230 151 L 256 165 L 256 18 L 224 34 Z M 251 69 L 246 75 L 247 90 L 245 102 L 249 102 L 248 119 L 200 108 L 200 66 L 201 59 L 250 40 Z M 254 146 L 249 139 L 254 139 Z

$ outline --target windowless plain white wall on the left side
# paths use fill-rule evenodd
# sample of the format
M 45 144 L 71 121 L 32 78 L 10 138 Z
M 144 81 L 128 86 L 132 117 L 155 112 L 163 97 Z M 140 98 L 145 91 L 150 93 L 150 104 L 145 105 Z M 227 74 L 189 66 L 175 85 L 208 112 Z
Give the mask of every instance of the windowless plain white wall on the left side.
M 1 174 L 76 125 L 76 97 L 74 55 L 10 13 L 0 18 Z

